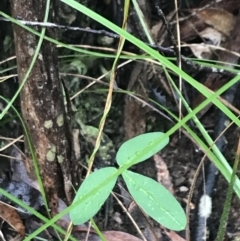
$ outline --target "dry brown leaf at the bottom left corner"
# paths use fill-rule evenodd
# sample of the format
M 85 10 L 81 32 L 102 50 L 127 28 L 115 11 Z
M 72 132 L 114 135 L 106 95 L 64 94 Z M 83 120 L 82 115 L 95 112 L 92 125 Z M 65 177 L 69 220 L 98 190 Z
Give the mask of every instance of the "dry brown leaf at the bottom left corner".
M 16 210 L 0 201 L 0 217 L 6 221 L 22 237 L 25 236 L 25 226 Z

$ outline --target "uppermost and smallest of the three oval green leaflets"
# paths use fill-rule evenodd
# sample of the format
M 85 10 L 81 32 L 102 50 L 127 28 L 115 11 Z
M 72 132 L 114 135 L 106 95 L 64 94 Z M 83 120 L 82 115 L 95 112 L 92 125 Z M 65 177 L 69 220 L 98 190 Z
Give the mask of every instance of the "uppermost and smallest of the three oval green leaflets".
M 155 145 L 154 148 L 151 147 L 152 144 L 155 144 L 154 142 L 156 139 L 159 139 L 160 137 L 163 137 L 165 134 L 162 132 L 151 132 L 142 134 L 139 136 L 136 136 L 126 142 L 124 142 L 121 147 L 119 148 L 116 156 L 116 160 L 119 166 L 122 166 L 125 164 L 130 158 L 134 157 L 138 152 L 142 151 L 143 149 L 146 149 L 143 155 L 141 155 L 141 158 L 138 159 L 133 164 L 142 162 L 161 149 L 165 147 L 169 142 L 169 137 L 166 136 L 165 138 L 162 138 L 158 145 Z

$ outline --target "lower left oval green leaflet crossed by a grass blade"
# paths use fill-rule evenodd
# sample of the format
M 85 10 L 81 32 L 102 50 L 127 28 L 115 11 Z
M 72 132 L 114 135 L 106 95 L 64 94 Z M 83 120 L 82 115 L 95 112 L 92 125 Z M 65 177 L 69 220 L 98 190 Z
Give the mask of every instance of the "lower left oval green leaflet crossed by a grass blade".
M 77 195 L 73 200 L 73 204 L 83 196 L 88 195 L 89 197 L 81 202 L 77 207 L 73 208 L 69 212 L 69 216 L 73 224 L 79 225 L 90 218 L 92 218 L 101 208 L 103 203 L 108 198 L 112 191 L 117 177 L 109 181 L 107 184 L 103 183 L 106 178 L 116 173 L 116 168 L 106 167 L 91 173 L 82 183 L 78 189 Z M 100 185 L 101 182 L 103 185 Z M 96 192 L 90 193 L 96 187 L 99 187 Z

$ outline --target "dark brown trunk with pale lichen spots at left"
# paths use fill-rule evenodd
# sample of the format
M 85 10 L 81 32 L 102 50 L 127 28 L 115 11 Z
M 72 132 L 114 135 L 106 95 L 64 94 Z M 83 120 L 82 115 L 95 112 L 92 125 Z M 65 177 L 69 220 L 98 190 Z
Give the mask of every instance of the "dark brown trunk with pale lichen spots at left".
M 27 21 L 42 22 L 45 7 L 46 0 L 13 0 L 11 3 L 13 17 Z M 50 11 L 53 13 L 54 6 Z M 50 18 L 49 21 L 54 22 L 54 19 Z M 21 83 L 39 37 L 17 25 L 13 29 Z M 41 31 L 39 27 L 34 29 Z M 54 31 L 46 31 L 46 35 L 54 38 Z M 58 197 L 65 196 L 68 203 L 72 201 L 71 135 L 59 80 L 57 49 L 50 42 L 42 43 L 39 56 L 21 91 L 21 108 L 36 153 L 48 205 L 54 215 L 57 213 Z M 35 178 L 31 158 L 28 158 L 26 165 L 31 178 Z

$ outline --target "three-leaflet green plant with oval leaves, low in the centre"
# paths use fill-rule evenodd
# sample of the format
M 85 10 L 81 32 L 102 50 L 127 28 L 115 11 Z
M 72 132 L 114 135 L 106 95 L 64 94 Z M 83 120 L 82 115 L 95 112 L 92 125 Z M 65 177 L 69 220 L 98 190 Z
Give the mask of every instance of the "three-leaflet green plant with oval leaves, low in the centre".
M 125 169 L 122 176 L 135 202 L 165 227 L 182 230 L 186 226 L 186 216 L 173 195 L 156 181 L 127 170 L 130 166 L 151 157 L 168 142 L 169 138 L 161 132 L 139 135 L 120 147 L 116 161 L 119 169 Z M 84 180 L 73 201 L 73 204 L 80 203 L 70 211 L 70 218 L 74 224 L 86 222 L 99 211 L 116 184 L 120 175 L 119 169 L 102 168 Z

